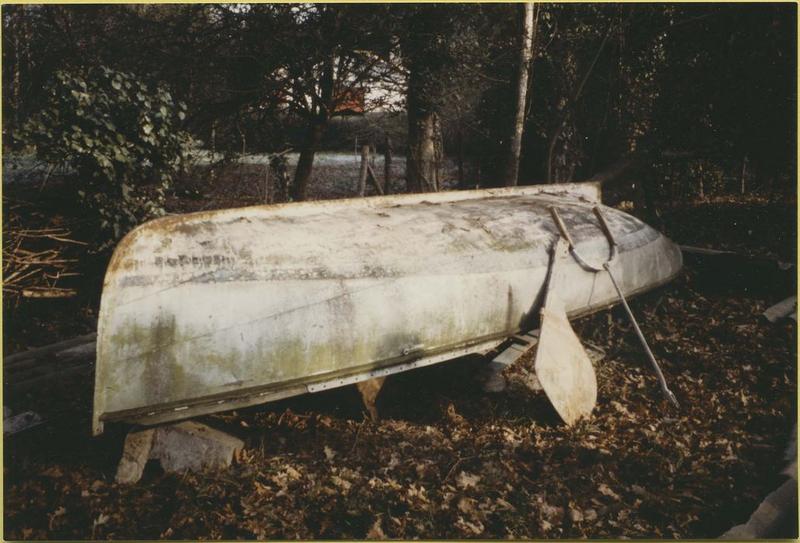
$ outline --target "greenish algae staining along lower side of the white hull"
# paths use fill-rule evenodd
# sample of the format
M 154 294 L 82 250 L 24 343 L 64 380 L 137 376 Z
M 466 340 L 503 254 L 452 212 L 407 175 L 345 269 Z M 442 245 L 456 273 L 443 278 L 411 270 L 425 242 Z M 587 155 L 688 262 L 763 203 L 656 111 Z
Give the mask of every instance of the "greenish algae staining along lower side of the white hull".
M 220 394 L 247 386 L 280 385 L 308 377 L 334 375 L 351 367 L 382 367 L 382 361 L 404 356 L 415 347 L 436 349 L 509 328 L 511 307 L 497 308 L 477 324 L 458 314 L 440 314 L 417 331 L 387 333 L 380 322 L 354 333 L 357 308 L 350 296 L 325 304 L 335 321 L 333 339 L 310 342 L 290 330 L 262 325 L 248 332 L 246 349 L 215 349 L 215 334 L 176 324 L 161 314 L 151 326 L 129 321 L 108 338 L 124 364 L 104 380 L 115 391 L 117 410 L 135 409 Z M 332 318 L 331 316 L 336 316 Z M 249 337 L 257 337 L 250 341 Z M 187 353 L 189 353 L 187 355 Z M 218 376 L 210 379 L 210 375 Z

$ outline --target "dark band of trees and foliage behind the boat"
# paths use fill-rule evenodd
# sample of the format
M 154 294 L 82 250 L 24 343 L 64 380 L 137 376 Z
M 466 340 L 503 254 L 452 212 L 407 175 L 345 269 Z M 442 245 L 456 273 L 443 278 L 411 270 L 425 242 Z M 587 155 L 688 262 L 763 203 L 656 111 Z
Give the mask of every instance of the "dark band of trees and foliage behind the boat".
M 295 200 L 360 96 L 357 114 L 395 132 L 401 119 L 409 191 L 436 190 L 449 155 L 464 187 L 627 176 L 651 201 L 794 192 L 796 9 L 5 5 L 3 141 L 20 144 L 56 74 L 105 67 L 169 88 L 206 147 L 299 151 Z

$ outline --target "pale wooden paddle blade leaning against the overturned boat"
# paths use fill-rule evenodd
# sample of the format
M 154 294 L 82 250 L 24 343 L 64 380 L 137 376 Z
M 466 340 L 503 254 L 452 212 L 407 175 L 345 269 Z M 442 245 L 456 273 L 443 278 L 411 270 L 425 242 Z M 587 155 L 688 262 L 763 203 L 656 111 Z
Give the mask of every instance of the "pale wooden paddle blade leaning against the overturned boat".
M 572 329 L 560 293 L 566 288 L 564 264 L 568 243 L 563 237 L 553 246 L 547 292 L 540 311 L 541 332 L 534 370 L 556 412 L 574 424 L 588 416 L 597 402 L 597 378 L 589 356 Z

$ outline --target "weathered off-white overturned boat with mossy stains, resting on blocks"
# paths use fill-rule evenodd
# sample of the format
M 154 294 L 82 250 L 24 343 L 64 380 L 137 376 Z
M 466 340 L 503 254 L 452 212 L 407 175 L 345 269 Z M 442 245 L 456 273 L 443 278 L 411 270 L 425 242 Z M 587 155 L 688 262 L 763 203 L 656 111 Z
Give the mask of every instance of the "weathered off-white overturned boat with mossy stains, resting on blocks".
M 93 429 L 156 424 L 486 352 L 537 318 L 563 218 L 605 261 L 591 183 L 256 206 L 148 222 L 117 247 L 98 322 Z M 676 245 L 603 207 L 625 295 L 673 278 Z M 565 265 L 570 317 L 618 300 Z

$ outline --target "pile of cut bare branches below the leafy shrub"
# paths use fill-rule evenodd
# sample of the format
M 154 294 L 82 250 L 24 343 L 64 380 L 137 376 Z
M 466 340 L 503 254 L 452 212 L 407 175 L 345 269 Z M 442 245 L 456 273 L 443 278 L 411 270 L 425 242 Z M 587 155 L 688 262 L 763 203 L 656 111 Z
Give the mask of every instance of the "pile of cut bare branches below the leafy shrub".
M 18 303 L 20 298 L 68 298 L 76 294 L 61 284 L 66 277 L 79 275 L 78 260 L 66 254 L 70 245 L 86 245 L 71 239 L 63 226 L 23 227 L 21 204 L 3 207 L 3 295 Z

